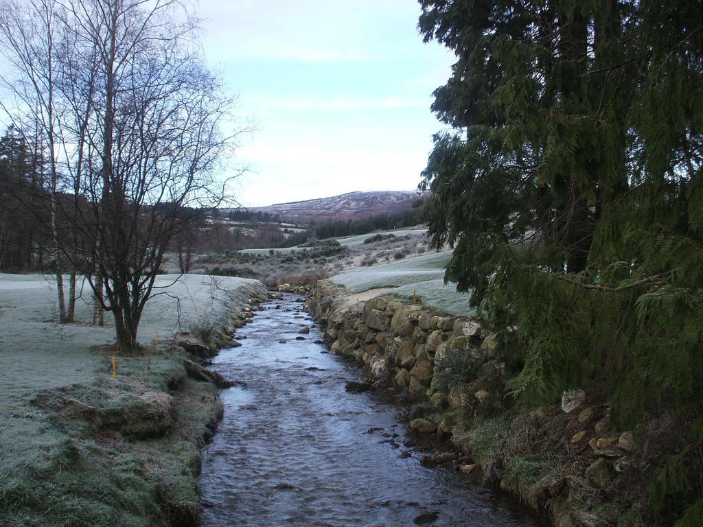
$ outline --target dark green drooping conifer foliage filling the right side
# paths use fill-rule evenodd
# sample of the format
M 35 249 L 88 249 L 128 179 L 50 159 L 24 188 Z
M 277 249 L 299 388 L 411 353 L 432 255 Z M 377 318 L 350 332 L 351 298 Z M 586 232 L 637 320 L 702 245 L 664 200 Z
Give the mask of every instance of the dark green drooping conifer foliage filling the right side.
M 513 393 L 588 384 L 703 438 L 699 1 L 420 0 L 456 53 L 420 187 L 446 280 L 520 327 Z M 697 424 L 696 424 L 697 423 Z

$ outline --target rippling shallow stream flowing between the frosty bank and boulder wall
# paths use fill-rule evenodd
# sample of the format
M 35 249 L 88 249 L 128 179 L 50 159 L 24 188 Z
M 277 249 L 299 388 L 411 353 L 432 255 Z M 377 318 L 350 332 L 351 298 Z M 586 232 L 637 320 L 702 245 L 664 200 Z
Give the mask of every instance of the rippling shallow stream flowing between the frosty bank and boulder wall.
M 420 466 L 398 409 L 348 393 L 359 368 L 327 353 L 303 304 L 269 302 L 214 369 L 224 419 L 203 453 L 203 526 L 538 526 L 524 509 L 446 468 Z M 280 342 L 285 340 L 285 344 Z M 414 523 L 413 523 L 414 522 Z

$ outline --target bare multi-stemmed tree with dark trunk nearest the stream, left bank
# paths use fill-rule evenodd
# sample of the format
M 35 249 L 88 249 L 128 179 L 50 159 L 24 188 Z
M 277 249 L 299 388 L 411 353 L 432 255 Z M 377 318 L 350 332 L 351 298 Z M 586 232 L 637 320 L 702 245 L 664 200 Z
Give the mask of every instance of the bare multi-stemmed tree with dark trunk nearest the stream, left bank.
M 61 216 L 72 234 L 64 256 L 112 313 L 120 349 L 137 345 L 174 233 L 200 220 L 181 212 L 205 214 L 225 199 L 227 181 L 215 174 L 236 145 L 237 134 L 221 132 L 232 100 L 202 65 L 193 24 L 176 20 L 180 6 L 67 0 L 52 19 L 61 25 L 51 66 L 62 101 L 60 166 L 73 195 L 53 204 L 67 209 Z M 17 24 L 8 20 L 7 31 Z

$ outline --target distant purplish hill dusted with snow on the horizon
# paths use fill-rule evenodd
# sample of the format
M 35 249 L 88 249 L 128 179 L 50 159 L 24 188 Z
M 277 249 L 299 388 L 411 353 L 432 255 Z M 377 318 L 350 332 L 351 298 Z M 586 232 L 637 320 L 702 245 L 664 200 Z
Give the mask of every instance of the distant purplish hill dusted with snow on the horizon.
M 290 220 L 359 219 L 372 214 L 390 214 L 411 209 L 420 195 L 413 191 L 351 192 L 317 200 L 277 203 L 268 207 L 253 207 L 252 211 L 278 214 Z

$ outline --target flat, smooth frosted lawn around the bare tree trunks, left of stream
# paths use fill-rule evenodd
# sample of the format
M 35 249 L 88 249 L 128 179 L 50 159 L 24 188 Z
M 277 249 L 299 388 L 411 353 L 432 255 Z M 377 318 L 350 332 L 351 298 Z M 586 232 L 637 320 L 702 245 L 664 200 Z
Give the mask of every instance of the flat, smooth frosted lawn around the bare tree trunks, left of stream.
M 203 275 L 183 275 L 174 282 L 176 278 L 157 278 L 157 286 L 164 289 L 146 304 L 139 328 L 144 344 L 150 344 L 156 332 L 163 340 L 200 320 L 217 318 L 226 309 L 223 300 L 231 294 L 226 289 L 255 283 Z M 77 302 L 79 323 L 54 323 L 56 285 L 49 280 L 40 275 L 0 274 L 0 394 L 5 402 L 31 396 L 40 387 L 90 380 L 96 368 L 109 363 L 90 353 L 90 348 L 115 341 L 110 313 L 105 313 L 105 327 L 86 324 L 91 320 L 86 284 L 86 298 Z

